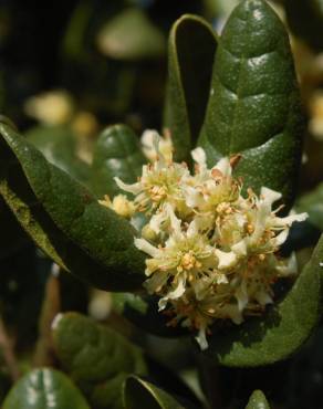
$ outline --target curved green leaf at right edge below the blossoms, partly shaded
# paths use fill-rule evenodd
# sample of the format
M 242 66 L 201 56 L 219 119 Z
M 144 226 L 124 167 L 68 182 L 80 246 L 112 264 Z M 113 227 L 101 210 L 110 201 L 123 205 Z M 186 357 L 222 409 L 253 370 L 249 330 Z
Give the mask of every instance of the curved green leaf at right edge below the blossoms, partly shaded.
M 206 355 L 232 367 L 275 363 L 295 353 L 321 317 L 323 235 L 285 297 L 267 315 L 248 318 L 226 333 L 215 333 Z

